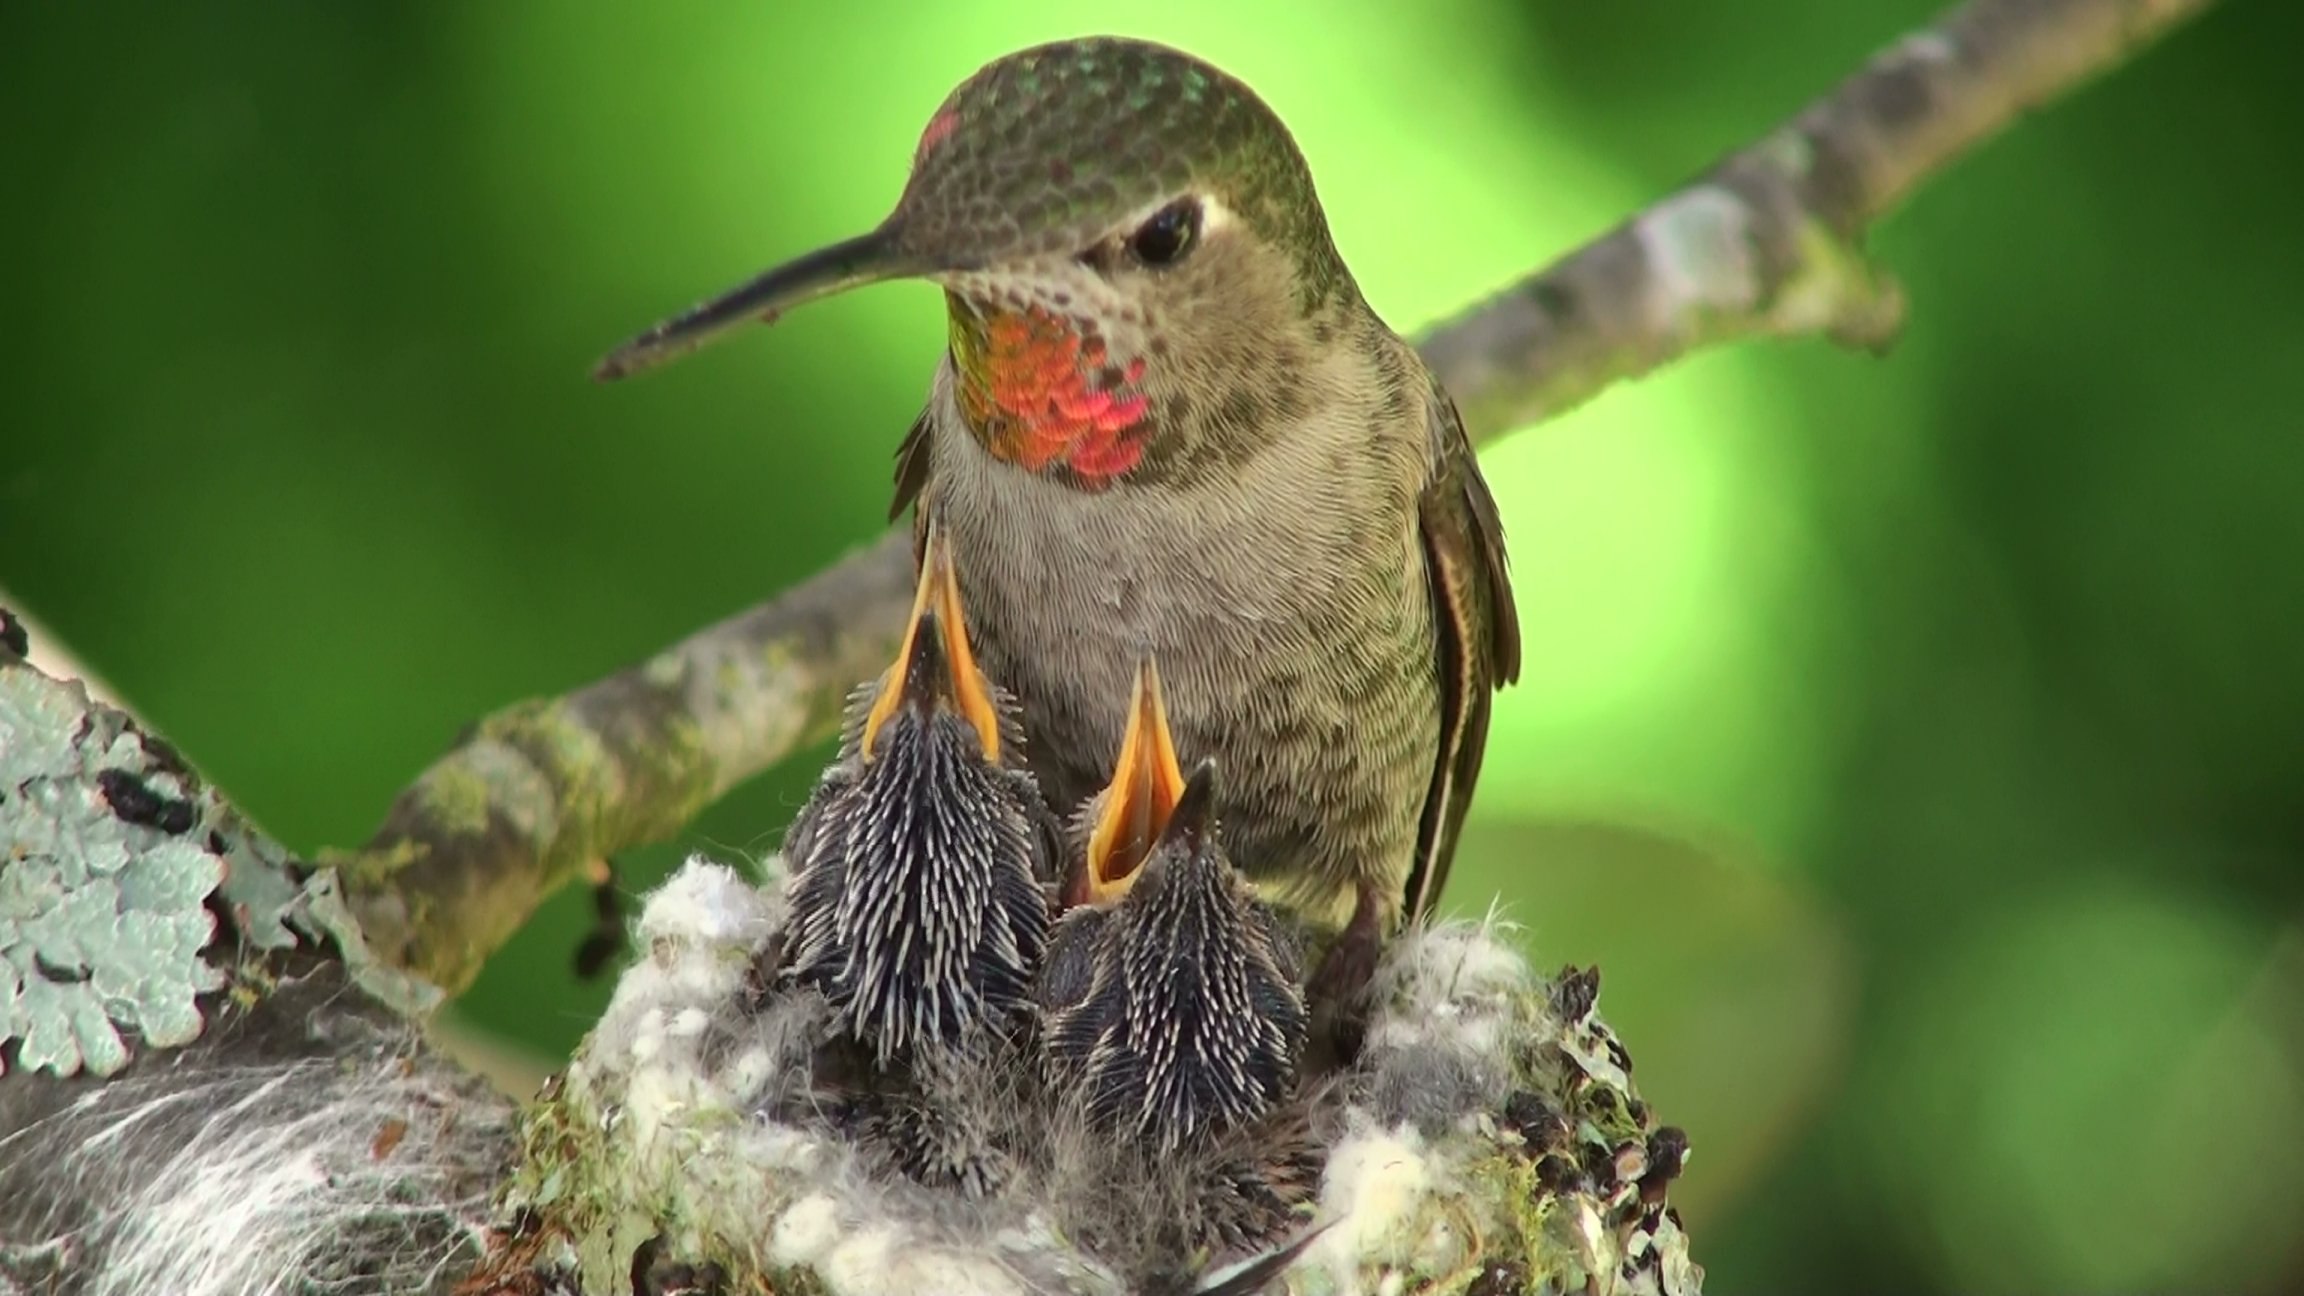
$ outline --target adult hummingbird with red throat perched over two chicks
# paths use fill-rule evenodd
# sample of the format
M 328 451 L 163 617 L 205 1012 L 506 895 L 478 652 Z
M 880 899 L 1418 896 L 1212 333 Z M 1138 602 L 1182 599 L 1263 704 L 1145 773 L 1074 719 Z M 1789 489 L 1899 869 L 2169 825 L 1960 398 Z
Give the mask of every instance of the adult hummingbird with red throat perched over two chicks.
M 1518 623 L 1463 422 L 1362 297 L 1288 127 L 1159 44 L 1011 53 L 935 111 L 878 228 L 597 376 L 885 279 L 949 314 L 894 512 L 949 535 L 1051 805 L 1108 782 L 1157 655 L 1242 869 L 1313 918 L 1350 904 L 1316 985 L 1355 999 L 1447 879 Z

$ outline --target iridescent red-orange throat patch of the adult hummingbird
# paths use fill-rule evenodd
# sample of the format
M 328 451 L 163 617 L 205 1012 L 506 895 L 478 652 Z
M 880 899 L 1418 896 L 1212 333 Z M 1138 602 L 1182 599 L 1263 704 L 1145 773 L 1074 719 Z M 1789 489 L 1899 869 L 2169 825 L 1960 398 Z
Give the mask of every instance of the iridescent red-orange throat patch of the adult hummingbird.
M 1145 452 L 1150 401 L 1136 392 L 1145 362 L 1115 369 L 1104 339 L 1041 307 L 952 309 L 952 362 L 961 413 L 984 450 L 1030 473 L 1053 464 L 1106 487 Z

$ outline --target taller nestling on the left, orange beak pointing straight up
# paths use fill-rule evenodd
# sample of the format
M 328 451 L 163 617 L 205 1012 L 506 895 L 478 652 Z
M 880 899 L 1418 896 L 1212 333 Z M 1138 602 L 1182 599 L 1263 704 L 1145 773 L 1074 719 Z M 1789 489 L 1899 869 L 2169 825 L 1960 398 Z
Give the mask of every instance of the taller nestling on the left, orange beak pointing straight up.
M 859 687 L 839 761 L 786 835 L 783 975 L 878 1068 L 982 1056 L 1032 1003 L 1060 853 L 1014 701 L 977 669 L 931 535 L 896 664 Z

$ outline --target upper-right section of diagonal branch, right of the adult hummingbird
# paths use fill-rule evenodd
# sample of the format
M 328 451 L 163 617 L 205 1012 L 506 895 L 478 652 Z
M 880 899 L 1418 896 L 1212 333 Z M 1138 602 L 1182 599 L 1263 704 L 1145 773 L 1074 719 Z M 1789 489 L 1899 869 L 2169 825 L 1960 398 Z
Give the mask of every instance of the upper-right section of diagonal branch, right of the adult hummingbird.
M 1788 125 L 1422 344 L 1477 440 L 1558 417 L 1700 346 L 1822 332 L 1882 351 L 1903 293 L 1873 221 L 2030 108 L 2214 0 L 1972 0 Z

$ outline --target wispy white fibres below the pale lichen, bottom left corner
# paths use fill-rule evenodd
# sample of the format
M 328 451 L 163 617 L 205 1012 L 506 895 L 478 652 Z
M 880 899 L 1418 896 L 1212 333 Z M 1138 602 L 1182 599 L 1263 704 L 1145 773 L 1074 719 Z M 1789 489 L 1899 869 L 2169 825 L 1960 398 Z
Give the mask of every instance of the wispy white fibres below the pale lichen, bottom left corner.
M 0 1137 L 60 1185 L 0 1268 L 88 1296 L 445 1291 L 479 1254 L 511 1112 L 380 1031 L 336 1056 L 147 1068 Z M 44 1287 L 35 1287 L 44 1289 Z

